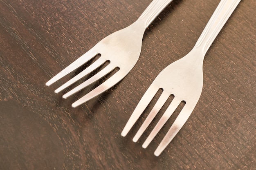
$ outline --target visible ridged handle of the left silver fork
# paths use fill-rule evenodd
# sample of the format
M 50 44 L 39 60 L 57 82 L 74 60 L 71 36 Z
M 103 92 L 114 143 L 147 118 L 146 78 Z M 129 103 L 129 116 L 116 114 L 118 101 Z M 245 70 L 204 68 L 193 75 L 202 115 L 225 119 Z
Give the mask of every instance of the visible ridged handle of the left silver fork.
M 153 20 L 163 11 L 163 9 L 173 0 L 153 0 L 138 20 L 145 23 L 145 29 L 153 22 Z

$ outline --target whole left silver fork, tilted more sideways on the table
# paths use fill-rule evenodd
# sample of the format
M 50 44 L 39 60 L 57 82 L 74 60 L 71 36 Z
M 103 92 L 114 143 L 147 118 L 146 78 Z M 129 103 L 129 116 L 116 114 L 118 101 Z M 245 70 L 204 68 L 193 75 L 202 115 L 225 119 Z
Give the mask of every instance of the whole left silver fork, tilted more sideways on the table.
M 115 68 L 118 68 L 119 70 L 114 75 L 90 91 L 88 94 L 74 102 L 72 107 L 77 107 L 90 100 L 91 98 L 105 92 L 107 89 L 121 81 L 121 79 L 123 79 L 130 72 L 132 67 L 134 67 L 134 65 L 137 63 L 141 53 L 141 42 L 145 29 L 171 1 L 172 0 L 153 0 L 138 18 L 138 20 L 136 20 L 132 25 L 116 31 L 106 38 L 103 38 L 94 47 L 92 47 L 92 49 L 75 60 L 72 64 L 67 66 L 52 79 L 50 79 L 46 85 L 49 86 L 52 83 L 58 81 L 70 72 L 79 68 L 81 65 L 87 63 L 94 56 L 100 54 L 100 58 L 98 58 L 94 63 L 84 69 L 81 73 L 77 74 L 74 78 L 70 79 L 61 87 L 56 89 L 55 92 L 61 92 L 66 87 L 69 87 L 79 79 L 99 68 L 101 65 L 106 63 L 106 61 L 109 61 L 110 63 L 106 67 L 104 67 L 101 71 L 99 71 L 88 80 L 76 86 L 74 89 L 64 94 L 63 98 L 71 96 L 72 94 L 80 91 L 91 83 L 106 76 Z

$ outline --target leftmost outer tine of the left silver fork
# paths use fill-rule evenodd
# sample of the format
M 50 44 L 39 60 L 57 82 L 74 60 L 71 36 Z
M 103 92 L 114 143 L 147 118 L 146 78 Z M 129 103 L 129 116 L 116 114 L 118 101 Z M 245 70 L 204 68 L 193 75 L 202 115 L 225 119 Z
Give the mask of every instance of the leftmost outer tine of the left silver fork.
M 95 52 L 94 48 L 87 51 L 85 54 L 83 54 L 81 57 L 77 58 L 73 63 L 68 65 L 65 69 L 63 69 L 61 72 L 56 74 L 53 78 L 51 78 L 45 85 L 49 86 L 58 81 L 59 79 L 63 78 L 70 72 L 74 71 L 84 63 L 88 62 L 90 59 L 92 59 L 94 56 L 96 56 L 98 53 Z

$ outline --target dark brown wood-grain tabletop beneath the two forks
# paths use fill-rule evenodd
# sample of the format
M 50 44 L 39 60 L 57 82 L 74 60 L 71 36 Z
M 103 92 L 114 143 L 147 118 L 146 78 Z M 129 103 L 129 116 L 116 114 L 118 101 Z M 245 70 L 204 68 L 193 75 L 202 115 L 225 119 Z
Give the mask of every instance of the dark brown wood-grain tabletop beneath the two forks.
M 153 152 L 170 125 L 146 149 L 157 121 L 132 142 L 146 113 L 126 137 L 121 131 L 157 74 L 195 45 L 219 0 L 171 2 L 146 29 L 131 72 L 88 103 L 71 107 L 93 86 L 66 100 L 54 94 L 72 75 L 45 86 L 150 2 L 0 0 L 1 170 L 256 169 L 255 0 L 240 2 L 211 45 L 200 100 L 159 157 Z

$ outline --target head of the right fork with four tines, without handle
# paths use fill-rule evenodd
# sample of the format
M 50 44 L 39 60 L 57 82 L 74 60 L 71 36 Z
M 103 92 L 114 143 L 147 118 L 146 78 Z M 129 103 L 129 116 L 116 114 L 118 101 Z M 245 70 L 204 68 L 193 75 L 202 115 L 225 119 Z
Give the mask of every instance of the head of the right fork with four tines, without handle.
M 200 98 L 203 85 L 203 56 L 204 55 L 200 50 L 193 49 L 185 57 L 175 61 L 166 67 L 162 72 L 160 72 L 160 74 L 155 78 L 153 83 L 145 92 L 144 96 L 139 101 L 137 107 L 130 116 L 130 119 L 126 123 L 126 126 L 124 127 L 121 135 L 126 136 L 126 134 L 128 134 L 132 126 L 135 124 L 139 116 L 141 116 L 141 114 L 144 112 L 147 105 L 153 99 L 157 91 L 162 88 L 162 94 L 158 98 L 153 109 L 150 111 L 144 123 L 141 125 L 137 134 L 135 134 L 133 138 L 134 142 L 139 139 L 139 137 L 143 134 L 148 125 L 154 119 L 156 114 L 162 108 L 168 97 L 170 95 L 174 95 L 171 104 L 168 106 L 162 117 L 159 119 L 158 123 L 155 125 L 155 128 L 152 130 L 142 145 L 143 148 L 146 148 L 157 135 L 159 130 L 171 117 L 178 105 L 184 101 L 184 107 L 175 119 L 171 128 L 168 130 L 167 134 L 164 136 L 162 142 L 155 150 L 155 155 L 158 156 L 171 142 L 177 132 L 179 132 L 179 130 L 182 128 Z

